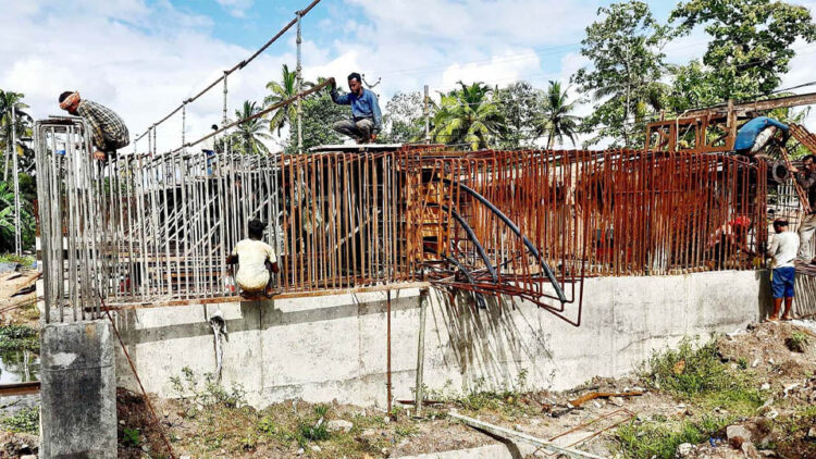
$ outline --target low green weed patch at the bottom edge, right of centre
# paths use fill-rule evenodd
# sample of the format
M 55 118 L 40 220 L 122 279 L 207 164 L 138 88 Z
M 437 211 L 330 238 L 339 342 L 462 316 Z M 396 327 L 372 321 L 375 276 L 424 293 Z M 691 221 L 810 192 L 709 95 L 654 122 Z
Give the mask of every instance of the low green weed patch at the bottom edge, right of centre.
M 620 455 L 627 459 L 671 459 L 683 443 L 703 443 L 732 419 L 703 417 L 700 422 L 683 421 L 678 425 L 666 422 L 632 421 L 615 433 Z

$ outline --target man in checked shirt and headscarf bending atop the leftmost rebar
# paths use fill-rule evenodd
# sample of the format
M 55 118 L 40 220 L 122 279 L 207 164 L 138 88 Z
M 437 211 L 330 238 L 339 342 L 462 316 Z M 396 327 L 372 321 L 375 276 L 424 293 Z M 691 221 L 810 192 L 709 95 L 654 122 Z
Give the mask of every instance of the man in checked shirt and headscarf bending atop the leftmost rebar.
M 62 92 L 60 108 L 88 122 L 96 148 L 94 158 L 100 161 L 114 157 L 118 149 L 131 142 L 125 122 L 113 110 L 97 102 L 81 99 L 77 91 Z

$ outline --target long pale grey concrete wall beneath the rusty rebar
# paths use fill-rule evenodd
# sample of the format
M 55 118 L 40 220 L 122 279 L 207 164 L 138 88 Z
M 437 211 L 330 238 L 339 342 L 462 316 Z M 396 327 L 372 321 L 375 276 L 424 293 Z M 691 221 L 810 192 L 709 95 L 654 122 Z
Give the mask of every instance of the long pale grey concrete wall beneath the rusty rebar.
M 459 393 L 524 383 L 566 389 L 592 376 L 621 376 L 684 335 L 707 337 L 756 321 L 767 300 L 763 272 L 724 271 L 584 283 L 583 319 L 567 324 L 535 305 L 455 305 L 431 289 L 424 383 Z M 396 399 L 415 386 L 419 290 L 392 291 L 392 373 Z M 116 323 L 148 392 L 178 396 L 171 383 L 187 367 L 217 367 L 208 319 L 221 310 L 222 383 L 240 384 L 256 407 L 288 398 L 384 406 L 386 294 L 366 293 L 120 311 Z M 574 306 L 567 307 L 574 314 Z M 136 388 L 121 350 L 119 384 Z

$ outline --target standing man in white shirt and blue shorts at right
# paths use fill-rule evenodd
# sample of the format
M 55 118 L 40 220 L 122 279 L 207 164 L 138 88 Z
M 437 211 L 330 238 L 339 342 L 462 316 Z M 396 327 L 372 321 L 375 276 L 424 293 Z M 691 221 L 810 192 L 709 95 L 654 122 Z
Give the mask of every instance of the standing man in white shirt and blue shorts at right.
M 768 257 L 771 257 L 770 287 L 774 294 L 774 313 L 768 317 L 769 321 L 779 321 L 779 310 L 784 299 L 784 313 L 782 320 L 791 320 L 791 306 L 793 305 L 793 284 L 796 277 L 796 252 L 799 251 L 799 235 L 788 231 L 788 222 L 784 220 L 774 221 L 774 239 L 770 241 Z

